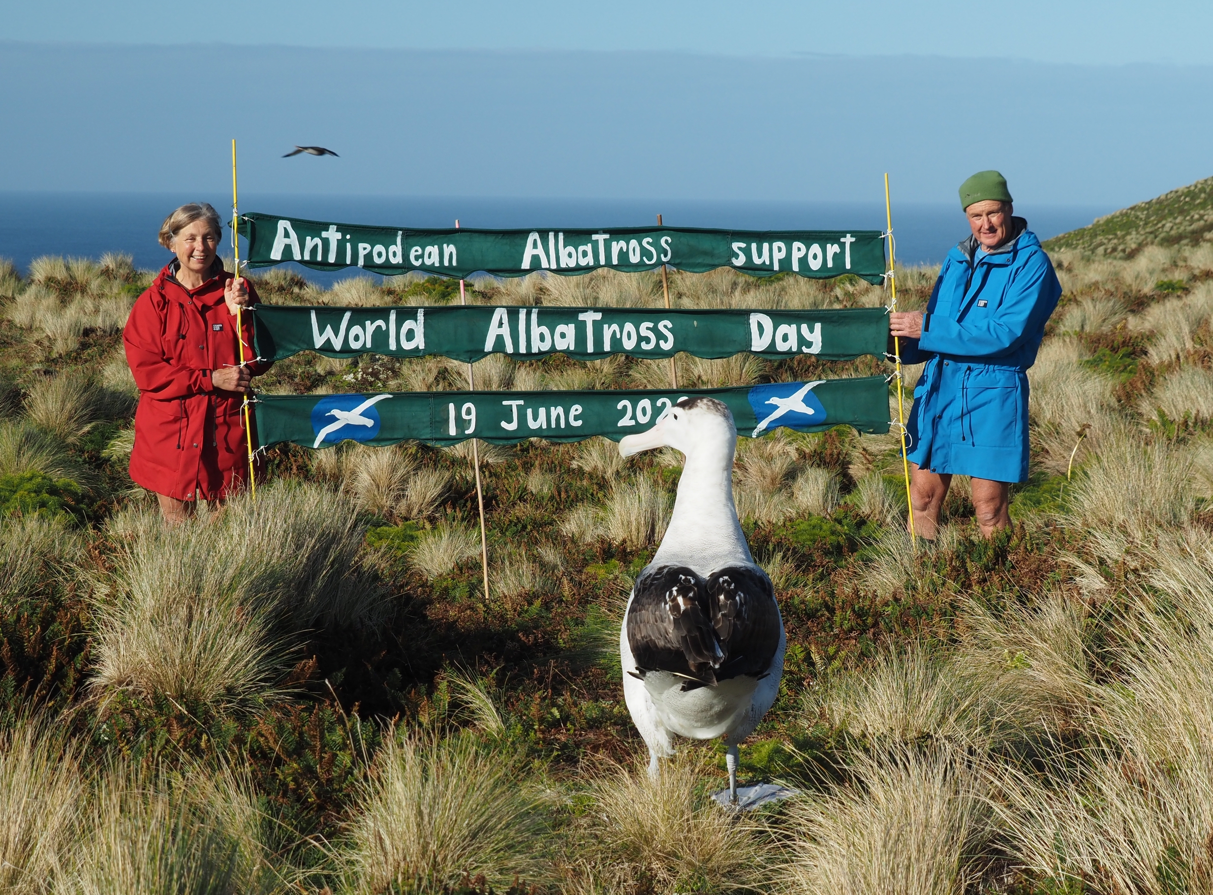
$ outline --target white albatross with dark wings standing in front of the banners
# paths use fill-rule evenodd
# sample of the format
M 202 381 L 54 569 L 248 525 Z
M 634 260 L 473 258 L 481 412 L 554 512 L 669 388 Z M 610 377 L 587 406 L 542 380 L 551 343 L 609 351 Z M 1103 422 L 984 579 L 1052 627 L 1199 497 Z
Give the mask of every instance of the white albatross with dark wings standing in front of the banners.
M 733 504 L 738 433 L 714 398 L 690 398 L 620 454 L 685 455 L 670 528 L 640 572 L 620 632 L 623 699 L 649 747 L 649 774 L 673 754 L 671 734 L 728 745 L 729 800 L 738 800 L 738 743 L 770 708 L 787 637 L 770 578 L 750 555 Z

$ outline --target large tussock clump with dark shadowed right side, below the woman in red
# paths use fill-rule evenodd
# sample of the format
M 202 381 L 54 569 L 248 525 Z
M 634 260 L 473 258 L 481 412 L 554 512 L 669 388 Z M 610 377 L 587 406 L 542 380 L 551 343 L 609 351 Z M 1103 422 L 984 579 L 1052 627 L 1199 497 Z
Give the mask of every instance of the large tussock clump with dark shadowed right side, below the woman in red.
M 369 626 L 385 610 L 353 508 L 318 486 L 275 483 L 175 528 L 129 511 L 109 529 L 96 688 L 247 705 L 274 695 L 296 632 Z

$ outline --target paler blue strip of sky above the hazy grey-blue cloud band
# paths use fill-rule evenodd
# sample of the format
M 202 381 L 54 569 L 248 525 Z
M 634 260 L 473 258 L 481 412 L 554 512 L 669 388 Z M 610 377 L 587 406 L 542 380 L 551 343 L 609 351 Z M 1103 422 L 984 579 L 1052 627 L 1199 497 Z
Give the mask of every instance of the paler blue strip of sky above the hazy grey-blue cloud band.
M 4 0 L 8 40 L 1213 63 L 1208 0 Z

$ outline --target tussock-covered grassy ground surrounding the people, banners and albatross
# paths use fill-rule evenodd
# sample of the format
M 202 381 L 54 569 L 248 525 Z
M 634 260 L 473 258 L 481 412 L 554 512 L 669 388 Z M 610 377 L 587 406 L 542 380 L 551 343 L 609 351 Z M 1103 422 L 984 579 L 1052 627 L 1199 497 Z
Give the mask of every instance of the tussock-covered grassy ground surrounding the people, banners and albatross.
M 13 893 L 1208 891 L 1213 252 L 1058 253 L 1032 478 L 978 536 L 963 480 L 904 530 L 893 437 L 741 439 L 735 496 L 788 650 L 736 822 L 719 743 L 643 773 L 617 634 L 679 455 L 280 448 L 258 497 L 166 529 L 126 477 L 121 256 L 0 267 L 0 888 Z M 910 306 L 934 270 L 899 273 Z M 283 273 L 272 302 L 445 303 Z M 671 279 L 687 307 L 856 307 L 858 281 Z M 661 303 L 610 272 L 469 301 Z M 883 361 L 678 359 L 724 386 Z M 459 389 L 466 365 L 297 355 L 280 393 Z M 666 361 L 477 364 L 485 388 L 661 386 Z M 910 371 L 911 378 L 915 375 Z

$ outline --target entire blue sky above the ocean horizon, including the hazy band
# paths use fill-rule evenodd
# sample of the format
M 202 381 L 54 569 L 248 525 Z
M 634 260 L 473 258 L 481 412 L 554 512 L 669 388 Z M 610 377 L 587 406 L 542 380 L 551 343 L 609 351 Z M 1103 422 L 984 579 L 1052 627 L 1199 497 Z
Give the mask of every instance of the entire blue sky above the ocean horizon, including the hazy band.
M 1213 175 L 1213 2 L 0 0 L 0 190 L 1126 205 Z M 280 155 L 296 143 L 340 159 Z

